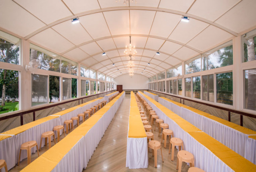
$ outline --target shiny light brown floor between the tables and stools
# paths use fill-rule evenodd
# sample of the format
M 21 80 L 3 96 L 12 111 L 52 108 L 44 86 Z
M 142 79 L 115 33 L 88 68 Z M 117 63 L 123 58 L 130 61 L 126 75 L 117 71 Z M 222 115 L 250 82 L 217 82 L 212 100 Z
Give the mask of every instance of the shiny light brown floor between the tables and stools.
M 86 169 L 83 172 L 177 172 L 177 150 L 175 149 L 174 161 L 171 161 L 169 151 L 169 143 L 167 143 L 167 149 L 163 148 L 163 160 L 161 159 L 160 150 L 157 154 L 157 168 L 154 168 L 154 157 L 152 157 L 152 151 L 148 151 L 148 168 L 147 169 L 129 169 L 126 167 L 126 144 L 127 144 L 127 132 L 128 132 L 128 119 L 130 112 L 130 95 L 126 95 L 121 103 L 117 113 L 111 121 L 108 129 L 105 132 L 102 140 L 100 141 L 96 151 L 89 160 Z M 88 118 L 87 118 L 88 119 Z M 75 126 L 76 128 L 77 126 Z M 154 128 L 154 127 L 153 127 Z M 72 131 L 71 131 L 72 132 Z M 161 141 L 161 135 L 158 137 L 158 133 L 154 132 L 154 139 Z M 61 135 L 61 139 L 64 135 Z M 38 143 L 39 144 L 39 143 Z M 53 145 L 52 141 L 52 145 Z M 48 147 L 41 148 L 39 155 L 42 155 L 48 150 Z M 31 162 L 37 158 L 37 153 L 31 155 Z M 9 170 L 9 172 L 19 172 L 27 166 L 27 158 L 20 162 L 19 166 L 15 166 Z M 187 164 L 182 164 L 182 172 L 187 172 Z

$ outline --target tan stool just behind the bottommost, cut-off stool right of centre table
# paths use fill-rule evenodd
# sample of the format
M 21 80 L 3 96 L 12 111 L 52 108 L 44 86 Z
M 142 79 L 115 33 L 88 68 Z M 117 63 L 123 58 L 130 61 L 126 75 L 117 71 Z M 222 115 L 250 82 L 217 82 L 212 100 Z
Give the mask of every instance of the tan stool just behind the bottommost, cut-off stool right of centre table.
M 190 167 L 194 167 L 194 155 L 188 151 L 179 151 L 177 154 L 177 166 L 178 172 L 181 172 L 182 162 L 189 163 Z

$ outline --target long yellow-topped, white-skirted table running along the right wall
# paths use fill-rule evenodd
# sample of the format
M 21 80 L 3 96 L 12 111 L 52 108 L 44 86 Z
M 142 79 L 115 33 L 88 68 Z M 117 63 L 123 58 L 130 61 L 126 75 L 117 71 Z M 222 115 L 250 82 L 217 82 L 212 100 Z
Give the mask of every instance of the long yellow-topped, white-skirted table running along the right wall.
M 189 123 L 256 164 L 256 151 L 251 151 L 253 149 L 252 144 L 255 148 L 256 142 L 255 139 L 249 139 L 250 135 L 256 135 L 255 131 L 168 98 L 160 97 L 159 103 L 171 111 L 176 111 L 180 117 Z

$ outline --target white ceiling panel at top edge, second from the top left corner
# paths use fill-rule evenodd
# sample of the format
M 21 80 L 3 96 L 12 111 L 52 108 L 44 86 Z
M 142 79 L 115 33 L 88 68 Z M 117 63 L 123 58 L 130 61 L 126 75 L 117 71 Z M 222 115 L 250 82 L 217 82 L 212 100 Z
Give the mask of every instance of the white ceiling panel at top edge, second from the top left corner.
M 72 15 L 60 0 L 33 0 L 33 3 L 31 0 L 15 1 L 47 25 Z

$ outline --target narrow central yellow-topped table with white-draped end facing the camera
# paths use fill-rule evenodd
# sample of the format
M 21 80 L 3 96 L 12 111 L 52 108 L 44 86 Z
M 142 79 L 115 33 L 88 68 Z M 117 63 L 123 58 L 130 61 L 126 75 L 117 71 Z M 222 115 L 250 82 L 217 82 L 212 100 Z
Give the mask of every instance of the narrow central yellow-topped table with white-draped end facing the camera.
M 133 91 L 131 91 L 126 149 L 126 167 L 129 169 L 148 167 L 147 135 Z

